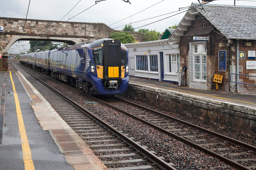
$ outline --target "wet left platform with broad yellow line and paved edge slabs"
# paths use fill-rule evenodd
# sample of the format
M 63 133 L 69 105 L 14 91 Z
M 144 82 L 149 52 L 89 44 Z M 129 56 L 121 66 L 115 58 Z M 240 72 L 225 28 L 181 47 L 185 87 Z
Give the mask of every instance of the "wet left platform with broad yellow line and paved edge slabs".
M 20 72 L 0 72 L 0 170 L 104 170 Z

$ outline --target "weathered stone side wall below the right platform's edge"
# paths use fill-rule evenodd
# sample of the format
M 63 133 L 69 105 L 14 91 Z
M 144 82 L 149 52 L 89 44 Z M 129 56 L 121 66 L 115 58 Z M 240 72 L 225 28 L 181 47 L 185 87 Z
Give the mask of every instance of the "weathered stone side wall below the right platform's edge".
M 232 128 L 255 136 L 256 109 L 253 107 L 136 84 L 129 84 L 124 96 L 182 114 L 204 124 L 222 129 Z

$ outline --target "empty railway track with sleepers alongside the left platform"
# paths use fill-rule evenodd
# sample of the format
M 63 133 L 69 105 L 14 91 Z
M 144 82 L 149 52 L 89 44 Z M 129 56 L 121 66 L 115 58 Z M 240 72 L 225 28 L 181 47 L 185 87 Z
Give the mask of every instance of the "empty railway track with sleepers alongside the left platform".
M 110 170 L 176 170 L 163 161 L 163 158 L 148 151 L 147 147 L 133 141 L 133 138 L 127 137 L 128 135 L 118 131 L 47 84 L 40 80 L 40 82 L 34 79 L 29 81 Z

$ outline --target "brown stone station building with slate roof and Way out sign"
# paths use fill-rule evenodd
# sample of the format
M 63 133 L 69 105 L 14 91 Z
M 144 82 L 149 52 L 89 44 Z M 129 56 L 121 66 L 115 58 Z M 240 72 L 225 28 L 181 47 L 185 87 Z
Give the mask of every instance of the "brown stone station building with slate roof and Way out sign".
M 167 42 L 180 49 L 178 68 L 187 67 L 184 86 L 256 94 L 255 11 L 252 6 L 191 4 Z

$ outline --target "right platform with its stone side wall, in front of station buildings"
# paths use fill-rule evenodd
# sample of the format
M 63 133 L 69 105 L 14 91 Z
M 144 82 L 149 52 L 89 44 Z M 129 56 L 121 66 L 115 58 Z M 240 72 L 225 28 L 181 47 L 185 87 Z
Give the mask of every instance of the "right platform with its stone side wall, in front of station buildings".
M 234 130 L 255 134 L 256 95 L 192 89 L 137 77 L 129 77 L 125 95 L 152 105 L 162 105 L 166 110 L 176 109 L 175 112 L 204 124 L 222 129 L 231 126 Z

